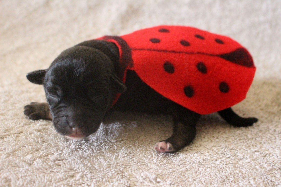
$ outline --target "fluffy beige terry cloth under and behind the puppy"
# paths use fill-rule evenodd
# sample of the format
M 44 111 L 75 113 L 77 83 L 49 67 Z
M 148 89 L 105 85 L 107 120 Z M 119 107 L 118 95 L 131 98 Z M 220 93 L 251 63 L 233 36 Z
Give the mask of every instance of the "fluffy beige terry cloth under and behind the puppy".
M 281 186 L 280 18 L 280 0 L 0 0 L 0 186 Z M 116 112 L 95 135 L 68 140 L 50 121 L 23 115 L 24 105 L 45 100 L 27 72 L 78 42 L 160 24 L 247 47 L 257 73 L 233 108 L 259 122 L 234 128 L 207 115 L 190 146 L 160 154 L 153 145 L 171 134 L 170 117 Z

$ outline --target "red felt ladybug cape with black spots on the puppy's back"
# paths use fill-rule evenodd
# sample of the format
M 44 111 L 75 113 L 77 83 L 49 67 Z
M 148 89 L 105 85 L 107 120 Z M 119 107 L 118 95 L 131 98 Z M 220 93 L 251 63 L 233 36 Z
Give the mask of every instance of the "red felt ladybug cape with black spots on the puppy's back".
M 242 101 L 256 70 L 239 43 L 193 27 L 157 26 L 99 39 L 118 46 L 123 82 L 126 70 L 134 70 L 155 91 L 199 114 Z

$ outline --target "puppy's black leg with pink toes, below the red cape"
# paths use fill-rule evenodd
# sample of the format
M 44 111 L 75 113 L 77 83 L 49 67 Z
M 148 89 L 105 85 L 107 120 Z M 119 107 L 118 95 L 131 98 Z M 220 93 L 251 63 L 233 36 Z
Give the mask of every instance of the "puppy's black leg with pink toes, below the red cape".
M 192 142 L 196 134 L 196 123 L 200 114 L 186 108 L 178 107 L 173 115 L 173 134 L 166 140 L 155 144 L 154 149 L 158 152 L 175 153 Z

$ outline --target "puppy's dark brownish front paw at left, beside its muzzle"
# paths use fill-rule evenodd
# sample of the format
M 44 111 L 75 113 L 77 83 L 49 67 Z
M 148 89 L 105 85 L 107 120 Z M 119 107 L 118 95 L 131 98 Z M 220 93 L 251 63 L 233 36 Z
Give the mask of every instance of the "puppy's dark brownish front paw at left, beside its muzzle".
M 32 102 L 24 107 L 24 115 L 29 119 L 47 119 L 52 120 L 52 115 L 48 103 Z

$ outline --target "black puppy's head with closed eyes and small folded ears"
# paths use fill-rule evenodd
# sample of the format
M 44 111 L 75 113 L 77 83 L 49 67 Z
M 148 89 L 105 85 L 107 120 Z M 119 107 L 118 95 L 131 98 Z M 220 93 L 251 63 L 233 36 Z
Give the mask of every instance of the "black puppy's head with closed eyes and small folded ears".
M 98 130 L 115 94 L 126 90 L 113 70 L 113 62 L 101 51 L 75 46 L 47 70 L 28 73 L 27 79 L 43 84 L 56 131 L 81 139 Z

